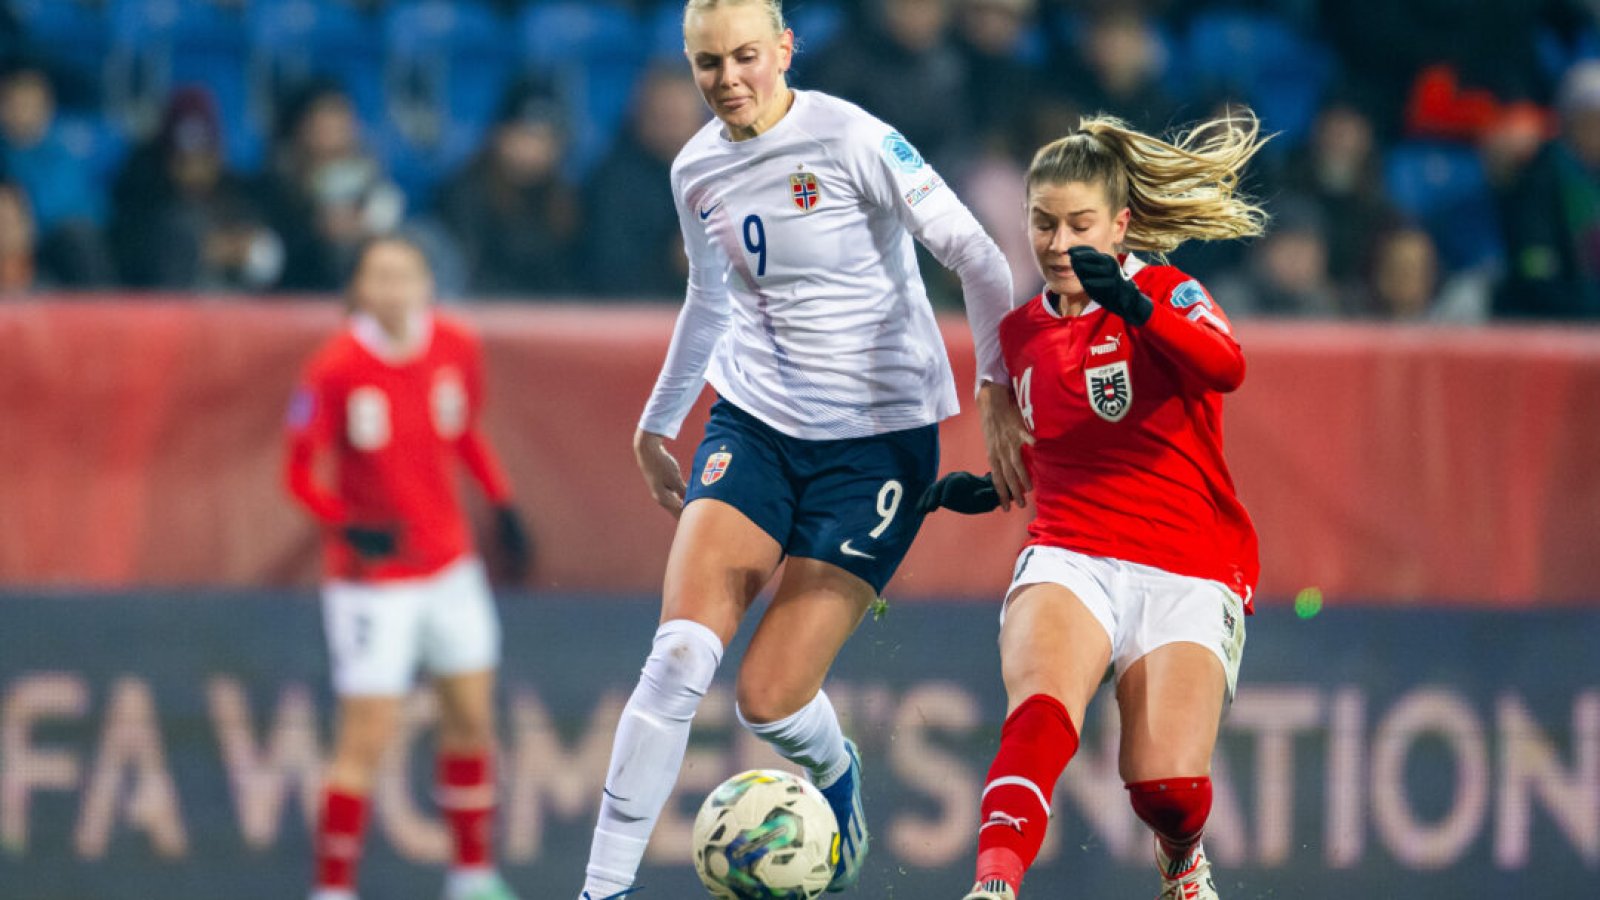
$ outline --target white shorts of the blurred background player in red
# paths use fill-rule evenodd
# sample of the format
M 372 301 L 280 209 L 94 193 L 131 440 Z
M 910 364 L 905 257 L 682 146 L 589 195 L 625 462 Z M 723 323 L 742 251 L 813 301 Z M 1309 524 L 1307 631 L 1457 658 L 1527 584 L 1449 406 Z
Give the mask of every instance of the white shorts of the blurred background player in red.
M 421 666 L 451 676 L 499 666 L 499 615 L 472 556 L 406 581 L 330 581 L 323 626 L 341 697 L 398 697 Z

